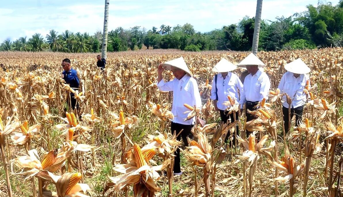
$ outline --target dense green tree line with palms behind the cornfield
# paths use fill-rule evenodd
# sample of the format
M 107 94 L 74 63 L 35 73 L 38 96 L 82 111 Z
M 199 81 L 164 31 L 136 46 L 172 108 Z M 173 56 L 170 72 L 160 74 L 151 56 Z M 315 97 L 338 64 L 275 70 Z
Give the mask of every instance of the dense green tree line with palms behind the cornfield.
M 251 50 L 255 18 L 248 16 L 238 24 L 224 26 L 201 33 L 191 24 L 175 27 L 161 25 L 151 30 L 140 26 L 130 29 L 118 27 L 108 32 L 107 51 L 139 50 L 149 48 L 176 48 L 185 51 L 203 50 Z M 59 33 L 50 30 L 45 37 L 35 33 L 15 41 L 5 40 L 1 51 L 54 51 L 54 52 L 100 52 L 102 33 Z M 307 6 L 307 11 L 290 17 L 278 17 L 274 21 L 263 20 L 260 30 L 259 50 L 305 49 L 343 46 L 343 0 L 333 6 L 330 2 L 319 2 L 318 6 Z

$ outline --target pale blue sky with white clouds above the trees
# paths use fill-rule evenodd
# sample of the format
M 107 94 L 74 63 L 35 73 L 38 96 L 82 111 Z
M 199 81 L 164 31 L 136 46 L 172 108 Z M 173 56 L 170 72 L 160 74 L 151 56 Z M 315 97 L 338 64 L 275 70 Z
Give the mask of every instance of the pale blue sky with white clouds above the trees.
M 336 5 L 339 0 L 331 0 Z M 318 0 L 264 0 L 262 19 L 291 16 L 317 5 Z M 59 33 L 93 34 L 102 31 L 104 0 L 3 0 L 0 7 L 0 42 L 34 33 L 45 38 L 50 29 Z M 201 32 L 238 23 L 255 16 L 256 0 L 110 0 L 109 30 L 136 25 L 146 30 L 162 24 L 172 27 L 190 23 Z

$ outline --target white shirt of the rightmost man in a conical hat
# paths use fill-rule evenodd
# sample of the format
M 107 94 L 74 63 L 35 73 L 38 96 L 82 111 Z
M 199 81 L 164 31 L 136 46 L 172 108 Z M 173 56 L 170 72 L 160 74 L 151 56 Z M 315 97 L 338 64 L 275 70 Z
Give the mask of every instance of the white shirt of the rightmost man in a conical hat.
M 277 88 L 280 89 L 281 93 L 286 93 L 291 99 L 291 108 L 297 108 L 305 104 L 306 94 L 304 89 L 306 86 L 306 81 L 310 80 L 307 74 L 300 74 L 297 78 L 293 75 L 292 72 L 286 72 L 280 81 L 280 84 Z M 285 108 L 289 108 L 288 103 L 286 102 L 286 96 L 282 97 L 282 105 Z

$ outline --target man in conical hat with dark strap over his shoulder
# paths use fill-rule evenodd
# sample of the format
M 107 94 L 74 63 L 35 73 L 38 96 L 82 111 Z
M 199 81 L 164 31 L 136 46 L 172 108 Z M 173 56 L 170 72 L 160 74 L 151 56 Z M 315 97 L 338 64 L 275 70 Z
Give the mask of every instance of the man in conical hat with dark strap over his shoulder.
M 213 100 L 214 109 L 219 111 L 223 123 L 227 123 L 231 119 L 231 123 L 239 119 L 239 111 L 227 110 L 227 105 L 224 102 L 229 101 L 230 96 L 235 105 L 239 103 L 239 94 L 243 92 L 243 84 L 238 76 L 230 71 L 235 70 L 237 67 L 226 59 L 222 59 L 216 64 L 212 71 L 217 72 L 213 77 L 211 99 Z M 233 133 L 232 133 L 233 134 Z M 239 135 L 238 125 L 236 126 L 236 135 Z M 236 141 L 236 135 L 233 135 L 233 141 Z M 229 139 L 230 133 L 227 133 L 225 142 Z M 234 143 L 230 141 L 230 146 Z

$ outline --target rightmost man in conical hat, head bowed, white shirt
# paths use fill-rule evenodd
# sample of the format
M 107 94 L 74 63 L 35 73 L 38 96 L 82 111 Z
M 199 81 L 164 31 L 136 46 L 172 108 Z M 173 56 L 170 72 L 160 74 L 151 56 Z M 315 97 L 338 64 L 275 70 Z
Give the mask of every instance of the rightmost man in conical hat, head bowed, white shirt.
M 282 113 L 284 120 L 285 132 L 288 133 L 290 121 L 295 114 L 295 126 L 301 122 L 303 116 L 304 105 L 306 102 L 306 94 L 304 89 L 306 82 L 308 85 L 310 78 L 306 73 L 310 72 L 310 68 L 300 58 L 285 65 L 286 72 L 280 81 L 278 88 L 281 93 L 286 93 L 291 98 L 291 106 L 286 102 L 286 96 L 282 97 Z M 288 110 L 291 108 L 291 116 L 289 118 Z

